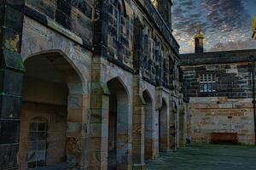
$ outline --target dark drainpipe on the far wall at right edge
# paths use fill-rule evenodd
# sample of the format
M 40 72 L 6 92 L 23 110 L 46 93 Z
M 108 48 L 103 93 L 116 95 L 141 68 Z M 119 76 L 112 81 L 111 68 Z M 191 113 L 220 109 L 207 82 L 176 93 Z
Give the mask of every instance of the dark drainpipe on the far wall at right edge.
M 253 116 L 254 116 L 254 144 L 256 145 L 256 102 L 255 102 L 255 58 L 253 55 L 250 56 L 250 60 L 253 61 L 252 71 L 253 71 Z

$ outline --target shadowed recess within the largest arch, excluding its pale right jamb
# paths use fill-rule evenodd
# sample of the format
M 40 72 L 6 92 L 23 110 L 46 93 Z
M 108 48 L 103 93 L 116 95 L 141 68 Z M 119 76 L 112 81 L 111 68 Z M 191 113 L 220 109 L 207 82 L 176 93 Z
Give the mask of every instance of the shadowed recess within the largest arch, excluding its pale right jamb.
M 59 53 L 38 54 L 25 61 L 20 113 L 21 169 L 67 168 L 67 124 L 73 115 L 70 96 L 82 94 L 79 75 Z M 79 108 L 82 112 L 82 108 Z M 76 111 L 79 116 L 79 110 Z M 76 167 L 75 165 L 73 165 Z

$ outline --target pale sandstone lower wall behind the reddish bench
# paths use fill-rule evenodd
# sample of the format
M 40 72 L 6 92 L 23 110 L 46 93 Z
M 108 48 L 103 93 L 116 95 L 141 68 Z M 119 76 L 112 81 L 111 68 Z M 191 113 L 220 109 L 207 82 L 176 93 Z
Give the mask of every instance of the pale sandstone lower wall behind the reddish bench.
M 211 133 L 238 133 L 241 144 L 254 143 L 252 99 L 190 98 L 192 142 L 211 142 Z

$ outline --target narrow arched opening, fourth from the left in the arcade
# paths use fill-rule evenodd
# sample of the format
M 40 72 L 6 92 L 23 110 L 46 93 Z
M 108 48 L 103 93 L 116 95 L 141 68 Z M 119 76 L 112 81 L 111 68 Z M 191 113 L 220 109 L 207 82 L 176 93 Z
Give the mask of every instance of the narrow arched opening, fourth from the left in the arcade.
M 162 106 L 159 111 L 159 150 L 168 150 L 168 121 L 167 121 L 167 104 L 162 99 Z

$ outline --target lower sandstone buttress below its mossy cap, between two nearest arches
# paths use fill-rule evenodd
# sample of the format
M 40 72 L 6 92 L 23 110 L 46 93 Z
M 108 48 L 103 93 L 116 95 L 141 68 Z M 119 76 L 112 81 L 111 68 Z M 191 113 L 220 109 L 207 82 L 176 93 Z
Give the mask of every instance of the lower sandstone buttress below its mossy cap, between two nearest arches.
M 106 85 L 92 83 L 90 104 L 89 169 L 108 169 L 108 107 L 109 92 Z

